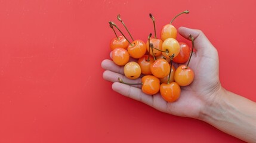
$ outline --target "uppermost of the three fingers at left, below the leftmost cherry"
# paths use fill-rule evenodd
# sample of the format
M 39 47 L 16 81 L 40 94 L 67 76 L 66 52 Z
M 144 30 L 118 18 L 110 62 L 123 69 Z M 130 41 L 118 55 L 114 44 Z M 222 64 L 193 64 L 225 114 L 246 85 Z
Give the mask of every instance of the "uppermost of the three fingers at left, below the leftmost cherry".
M 124 74 L 124 66 L 118 66 L 112 60 L 107 60 L 107 59 L 103 60 L 101 62 L 101 67 L 104 70 L 110 70 L 110 71 L 113 71 L 115 73 Z

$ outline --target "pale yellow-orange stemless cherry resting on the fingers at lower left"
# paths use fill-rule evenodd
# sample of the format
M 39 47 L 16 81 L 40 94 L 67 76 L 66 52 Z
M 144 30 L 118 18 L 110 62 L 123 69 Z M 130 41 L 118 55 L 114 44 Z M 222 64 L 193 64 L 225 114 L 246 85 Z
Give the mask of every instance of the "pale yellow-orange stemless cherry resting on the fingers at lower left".
M 135 61 L 130 61 L 129 63 L 125 64 L 124 73 L 128 79 L 137 79 L 141 74 L 140 65 L 138 65 L 138 63 Z

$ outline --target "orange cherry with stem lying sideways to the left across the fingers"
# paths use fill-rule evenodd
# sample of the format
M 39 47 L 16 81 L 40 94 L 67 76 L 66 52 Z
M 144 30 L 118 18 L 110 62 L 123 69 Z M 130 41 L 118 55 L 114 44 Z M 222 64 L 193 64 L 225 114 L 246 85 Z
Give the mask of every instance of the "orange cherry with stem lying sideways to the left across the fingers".
M 141 90 L 148 95 L 154 95 L 159 92 L 160 80 L 151 75 L 143 76 L 141 78 L 141 83 L 125 83 L 122 79 L 118 78 L 119 82 L 127 85 L 142 85 Z

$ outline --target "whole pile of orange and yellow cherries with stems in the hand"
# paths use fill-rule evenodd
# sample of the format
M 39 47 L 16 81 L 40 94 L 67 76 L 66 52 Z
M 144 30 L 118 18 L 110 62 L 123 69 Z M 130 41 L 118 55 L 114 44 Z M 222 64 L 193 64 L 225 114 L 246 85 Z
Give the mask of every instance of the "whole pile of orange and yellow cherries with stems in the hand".
M 178 15 L 188 13 L 189 11 L 186 10 Z M 171 23 L 178 15 L 171 20 Z M 194 72 L 189 67 L 194 39 L 193 36 L 189 36 L 192 41 L 192 49 L 186 43 L 178 42 L 176 40 L 177 29 L 171 23 L 162 27 L 161 38 L 157 38 L 155 18 L 152 14 L 149 16 L 153 21 L 155 37 L 152 37 L 150 33 L 146 43 L 141 40 L 134 41 L 121 19 L 121 15 L 118 15 L 117 19 L 124 25 L 133 42 L 125 37 L 115 23 L 109 21 L 115 35 L 114 27 L 122 34 L 121 36 L 116 35 L 116 38 L 110 41 L 112 60 L 118 66 L 124 66 L 124 74 L 129 79 L 137 79 L 142 76 L 141 83 L 125 83 L 118 78 L 119 82 L 128 85 L 142 85 L 141 90 L 148 95 L 155 95 L 160 91 L 164 100 L 174 102 L 180 97 L 180 86 L 190 85 L 194 79 Z M 130 57 L 137 59 L 137 62 L 129 61 Z M 175 69 L 172 61 L 183 65 Z

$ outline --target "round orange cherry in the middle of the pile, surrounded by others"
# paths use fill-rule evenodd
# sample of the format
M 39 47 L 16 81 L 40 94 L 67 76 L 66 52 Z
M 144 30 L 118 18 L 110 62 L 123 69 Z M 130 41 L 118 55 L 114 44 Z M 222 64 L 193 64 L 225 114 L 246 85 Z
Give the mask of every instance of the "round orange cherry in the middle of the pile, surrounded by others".
M 169 74 L 171 67 L 164 58 L 159 58 L 150 65 L 152 74 L 158 78 L 163 78 Z

